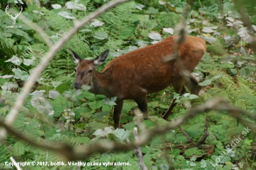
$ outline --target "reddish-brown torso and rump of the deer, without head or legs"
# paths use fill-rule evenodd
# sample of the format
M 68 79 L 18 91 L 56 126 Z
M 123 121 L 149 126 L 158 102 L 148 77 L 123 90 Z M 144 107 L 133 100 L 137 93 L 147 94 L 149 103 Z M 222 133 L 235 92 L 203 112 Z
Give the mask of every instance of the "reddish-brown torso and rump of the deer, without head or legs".
M 173 54 L 174 43 L 175 36 L 171 36 L 155 45 L 113 59 L 101 73 L 97 74 L 103 82 L 101 87 L 107 89 L 111 96 L 134 99 L 159 92 L 179 82 L 183 78 L 175 59 L 163 62 L 165 56 Z M 205 51 L 203 39 L 186 36 L 186 40 L 179 46 L 178 53 L 184 67 L 192 72 Z

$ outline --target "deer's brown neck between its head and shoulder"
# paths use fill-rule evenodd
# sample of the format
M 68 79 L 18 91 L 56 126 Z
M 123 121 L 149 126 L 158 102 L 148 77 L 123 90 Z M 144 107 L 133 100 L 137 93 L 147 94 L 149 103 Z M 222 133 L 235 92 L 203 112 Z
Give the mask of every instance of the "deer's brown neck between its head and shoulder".
M 103 94 L 107 97 L 113 97 L 111 95 L 111 92 L 109 91 L 109 77 L 110 76 L 108 75 L 108 72 L 99 73 L 97 71 L 94 71 L 91 83 L 92 88 L 89 90 L 89 92 L 92 92 L 94 94 Z

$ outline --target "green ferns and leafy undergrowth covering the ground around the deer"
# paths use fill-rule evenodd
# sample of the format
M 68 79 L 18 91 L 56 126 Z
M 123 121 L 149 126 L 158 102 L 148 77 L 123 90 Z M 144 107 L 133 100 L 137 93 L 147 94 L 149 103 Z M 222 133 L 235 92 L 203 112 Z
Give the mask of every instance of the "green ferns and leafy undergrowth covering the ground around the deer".
M 75 8 L 67 9 L 65 0 L 39 0 L 39 3 L 25 0 L 22 14 L 43 28 L 55 43 L 74 25 L 74 20 L 59 15 L 60 12 L 69 13 L 79 22 L 107 1 L 79 0 L 78 3 L 86 7 L 86 11 L 83 11 Z M 5 13 L 7 3 L 15 9 L 21 6 L 20 3 L 15 4 L 12 0 L 4 0 L 0 3 L 0 116 L 2 118 L 5 118 L 17 98 L 22 82 L 27 80 L 30 72 L 33 72 L 34 67 L 49 49 L 41 36 L 19 18 L 16 25 L 21 25 L 22 28 L 6 27 L 12 25 L 10 17 Z M 52 6 L 54 4 L 61 5 L 61 8 L 54 9 Z M 74 91 L 72 85 L 75 78 L 75 64 L 67 48 L 71 48 L 84 59 L 94 59 L 101 52 L 109 49 L 107 61 L 98 66 L 101 72 L 115 57 L 154 43 L 156 39 L 152 39 L 151 33 L 161 36 L 161 39 L 172 35 L 173 33 L 166 32 L 163 28 L 175 28 L 183 17 L 185 4 L 185 0 L 130 1 L 109 10 L 97 20 L 82 27 L 41 73 L 13 128 L 35 140 L 61 141 L 73 147 L 100 140 L 115 140 L 121 143 L 127 143 L 127 138 L 134 140 L 131 130 L 135 126 L 133 122 L 135 102 L 127 100 L 124 104 L 121 118 L 123 129 L 114 130 L 109 127 L 113 125 L 115 98 L 106 99 L 102 95 L 94 95 L 86 90 Z M 256 7 L 253 0 L 247 0 L 244 4 L 251 23 L 256 25 Z M 186 106 L 194 107 L 214 97 L 225 98 L 230 104 L 256 115 L 255 47 L 244 38 L 247 33 L 244 31 L 246 28 L 236 22 L 240 20 L 242 20 L 241 14 L 230 0 L 195 0 L 192 3 L 186 21 L 188 34 L 204 37 L 208 42 L 208 51 L 195 69 L 196 75 L 201 78 L 201 85 L 204 86 L 202 94 L 199 98 L 189 95 L 180 97 L 177 94 L 173 95 L 172 88 L 167 88 L 162 92 L 148 95 L 151 117 L 144 121 L 146 127 L 168 123 L 160 116 L 166 111 L 172 98 L 178 98 L 179 102 L 170 120 L 184 115 L 189 108 Z M 255 35 L 255 32 L 256 26 L 253 27 L 251 34 Z M 26 56 L 27 60 L 19 60 L 28 47 L 33 51 Z M 16 55 L 20 62 L 16 62 L 17 58 L 13 55 Z M 215 164 L 216 158 L 223 155 L 226 146 L 241 135 L 244 126 L 224 111 L 211 111 L 192 118 L 182 125 L 194 142 L 202 137 L 206 115 L 209 117 L 209 137 L 203 146 L 213 145 L 213 154 L 197 147 L 185 151 L 176 147 L 180 143 L 186 144 L 187 139 L 179 130 L 169 131 L 162 136 L 156 135 L 149 144 L 142 146 L 144 162 L 148 169 L 255 169 L 255 149 L 252 150 L 255 144 L 253 133 L 243 138 L 232 152 L 224 155 L 216 167 L 212 166 L 211 163 Z M 246 116 L 243 118 L 255 123 Z M 6 161 L 10 162 L 10 156 L 17 162 L 63 161 L 51 151 L 35 148 L 11 135 L 0 144 L 0 169 L 13 169 L 4 164 Z M 139 169 L 138 158 L 133 150 L 96 154 L 88 160 L 81 161 L 91 163 L 120 161 L 131 164 L 122 167 L 99 165 L 81 167 L 86 170 Z M 25 168 L 47 170 L 67 167 L 40 165 Z M 76 166 L 69 168 L 77 169 Z

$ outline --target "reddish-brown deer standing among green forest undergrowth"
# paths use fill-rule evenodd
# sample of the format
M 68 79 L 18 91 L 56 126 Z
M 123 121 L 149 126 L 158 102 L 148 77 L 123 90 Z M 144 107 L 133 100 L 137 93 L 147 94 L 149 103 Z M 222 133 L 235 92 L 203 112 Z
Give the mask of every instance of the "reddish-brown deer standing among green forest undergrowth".
M 113 116 L 115 128 L 119 128 L 125 99 L 134 100 L 143 113 L 143 118 L 147 119 L 147 94 L 162 91 L 170 85 L 181 95 L 186 92 L 185 85 L 190 93 L 195 95 L 198 95 L 202 89 L 192 74 L 189 78 L 181 75 L 181 68 L 175 59 L 163 62 L 165 56 L 173 54 L 174 44 L 175 36 L 170 36 L 154 45 L 128 52 L 113 59 L 101 73 L 95 71 L 95 68 L 105 61 L 109 50 L 94 60 L 85 60 L 69 49 L 77 64 L 74 69 L 76 75 L 74 88 L 80 89 L 81 85 L 90 85 L 89 92 L 103 94 L 108 98 L 117 96 Z M 192 36 L 185 36 L 185 41 L 178 47 L 178 55 L 183 67 L 190 73 L 205 51 L 205 41 Z M 164 119 L 168 118 L 175 105 L 173 101 L 165 112 Z

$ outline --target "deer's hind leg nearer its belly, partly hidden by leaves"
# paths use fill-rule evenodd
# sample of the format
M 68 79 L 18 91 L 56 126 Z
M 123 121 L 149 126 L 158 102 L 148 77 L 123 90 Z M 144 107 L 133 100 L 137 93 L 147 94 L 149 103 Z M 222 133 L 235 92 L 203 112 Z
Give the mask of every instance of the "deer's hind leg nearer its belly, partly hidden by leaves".
M 183 81 L 180 81 L 180 82 L 183 82 Z M 181 86 L 182 85 L 182 86 Z M 175 84 L 172 85 L 174 87 L 174 91 L 176 93 L 179 93 L 181 96 L 182 94 L 184 94 L 186 92 L 186 89 L 185 89 L 185 86 L 184 86 L 184 83 L 178 83 L 176 82 Z M 169 106 L 168 110 L 164 113 L 164 116 L 163 116 L 163 119 L 167 120 L 168 117 L 170 115 L 172 115 L 172 110 L 173 108 L 175 107 L 175 105 L 177 105 L 177 103 L 175 103 L 175 99 L 173 99 L 171 105 Z

